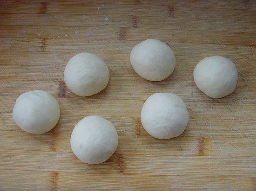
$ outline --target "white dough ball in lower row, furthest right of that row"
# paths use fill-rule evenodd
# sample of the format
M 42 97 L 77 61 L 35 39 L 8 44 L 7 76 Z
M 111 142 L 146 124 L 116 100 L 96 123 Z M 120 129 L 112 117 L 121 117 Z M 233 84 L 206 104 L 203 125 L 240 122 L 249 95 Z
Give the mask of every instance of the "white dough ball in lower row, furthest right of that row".
M 189 112 L 179 96 L 156 93 L 148 97 L 141 109 L 141 123 L 148 134 L 158 139 L 170 139 L 183 133 L 189 122 Z

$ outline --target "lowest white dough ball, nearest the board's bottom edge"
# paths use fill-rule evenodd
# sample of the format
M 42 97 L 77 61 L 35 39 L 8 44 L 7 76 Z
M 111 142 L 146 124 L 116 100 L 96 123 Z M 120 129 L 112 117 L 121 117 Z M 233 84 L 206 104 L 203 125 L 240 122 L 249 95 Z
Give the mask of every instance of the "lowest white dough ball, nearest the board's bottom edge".
M 91 115 L 79 121 L 71 134 L 70 144 L 75 156 L 94 165 L 108 160 L 115 153 L 118 138 L 114 125 Z

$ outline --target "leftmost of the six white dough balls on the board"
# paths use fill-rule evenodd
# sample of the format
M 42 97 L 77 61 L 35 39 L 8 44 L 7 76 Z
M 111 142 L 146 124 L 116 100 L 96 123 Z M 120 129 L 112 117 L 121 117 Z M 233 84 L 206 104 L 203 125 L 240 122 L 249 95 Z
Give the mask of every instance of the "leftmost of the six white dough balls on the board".
M 55 127 L 60 106 L 54 96 L 42 90 L 21 94 L 13 107 L 13 121 L 24 131 L 43 134 Z

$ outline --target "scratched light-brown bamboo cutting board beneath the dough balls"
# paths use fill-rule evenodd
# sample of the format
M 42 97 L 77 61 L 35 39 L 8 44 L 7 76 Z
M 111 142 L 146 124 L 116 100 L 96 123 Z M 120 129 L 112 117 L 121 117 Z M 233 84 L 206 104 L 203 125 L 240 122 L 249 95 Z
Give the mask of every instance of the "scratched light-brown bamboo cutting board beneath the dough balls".
M 161 82 L 139 77 L 129 53 L 158 38 L 175 51 Z M 106 89 L 79 97 L 63 82 L 68 60 L 88 51 L 108 64 Z M 196 88 L 195 64 L 221 55 L 236 63 L 238 83 L 224 98 Z M 60 103 L 46 134 L 12 120 L 17 97 L 41 89 Z M 185 132 L 158 140 L 141 126 L 144 101 L 156 92 L 180 96 Z M 256 190 L 256 1 L 0 0 L 0 190 Z M 75 157 L 70 135 L 88 115 L 113 122 L 119 144 L 100 165 Z

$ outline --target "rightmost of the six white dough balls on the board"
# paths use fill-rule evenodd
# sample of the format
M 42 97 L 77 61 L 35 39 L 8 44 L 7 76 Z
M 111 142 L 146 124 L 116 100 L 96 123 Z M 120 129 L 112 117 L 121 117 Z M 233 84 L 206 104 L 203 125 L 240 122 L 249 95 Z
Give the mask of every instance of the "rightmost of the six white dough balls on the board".
M 209 97 L 227 96 L 236 88 L 236 65 L 226 57 L 203 58 L 195 66 L 194 81 L 196 86 Z

